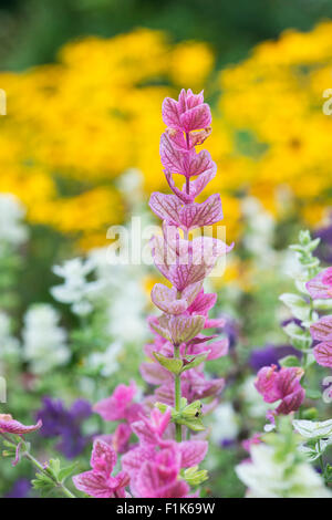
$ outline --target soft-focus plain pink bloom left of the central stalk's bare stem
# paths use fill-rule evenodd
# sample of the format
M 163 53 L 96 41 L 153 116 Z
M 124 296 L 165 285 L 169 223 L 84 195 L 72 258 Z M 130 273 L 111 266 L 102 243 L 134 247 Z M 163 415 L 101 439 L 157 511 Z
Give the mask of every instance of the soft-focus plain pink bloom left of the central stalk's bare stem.
M 100 401 L 93 407 L 94 412 L 100 414 L 104 420 L 120 420 L 126 418 L 129 412 L 129 405 L 136 393 L 136 385 L 132 381 L 129 386 L 118 385 L 111 397 Z

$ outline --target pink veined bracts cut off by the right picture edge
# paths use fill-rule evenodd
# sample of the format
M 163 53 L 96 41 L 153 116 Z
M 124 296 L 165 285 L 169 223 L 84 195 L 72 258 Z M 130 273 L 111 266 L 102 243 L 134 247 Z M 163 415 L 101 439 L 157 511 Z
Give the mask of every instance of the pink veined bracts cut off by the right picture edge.
M 332 268 L 324 269 L 307 283 L 309 294 L 313 300 L 332 299 Z M 312 339 L 320 342 L 313 349 L 315 361 L 332 368 L 332 315 L 321 318 L 311 325 Z

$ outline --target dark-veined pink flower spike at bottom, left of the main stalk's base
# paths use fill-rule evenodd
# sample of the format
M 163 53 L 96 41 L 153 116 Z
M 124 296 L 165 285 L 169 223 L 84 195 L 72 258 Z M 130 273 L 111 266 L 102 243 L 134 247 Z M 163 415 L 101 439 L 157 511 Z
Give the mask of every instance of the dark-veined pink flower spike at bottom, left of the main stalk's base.
M 121 471 L 116 477 L 111 474 L 116 464 L 116 454 L 103 440 L 95 440 L 91 456 L 92 470 L 73 477 L 75 487 L 94 498 L 125 498 L 124 488 L 129 483 L 129 477 Z

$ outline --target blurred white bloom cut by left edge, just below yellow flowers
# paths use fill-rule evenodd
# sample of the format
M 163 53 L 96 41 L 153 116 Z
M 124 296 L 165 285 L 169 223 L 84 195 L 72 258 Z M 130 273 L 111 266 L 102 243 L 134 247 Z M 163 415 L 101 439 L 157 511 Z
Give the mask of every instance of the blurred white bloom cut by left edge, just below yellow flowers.
M 22 223 L 24 207 L 12 194 L 0 194 L 0 243 L 20 246 L 28 238 L 27 227 Z

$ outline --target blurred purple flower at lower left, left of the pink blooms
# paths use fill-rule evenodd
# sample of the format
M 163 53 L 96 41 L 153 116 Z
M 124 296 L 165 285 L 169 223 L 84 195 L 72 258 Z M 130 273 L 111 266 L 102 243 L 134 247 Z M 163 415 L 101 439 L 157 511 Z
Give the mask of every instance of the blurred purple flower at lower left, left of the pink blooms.
M 37 418 L 43 422 L 40 435 L 60 437 L 56 449 L 66 458 L 74 458 L 90 441 L 90 437 L 82 435 L 81 426 L 91 414 L 92 407 L 84 399 L 75 401 L 70 409 L 65 409 L 62 401 L 44 397 L 43 407 L 37 413 Z

